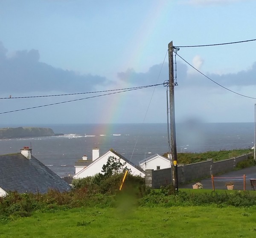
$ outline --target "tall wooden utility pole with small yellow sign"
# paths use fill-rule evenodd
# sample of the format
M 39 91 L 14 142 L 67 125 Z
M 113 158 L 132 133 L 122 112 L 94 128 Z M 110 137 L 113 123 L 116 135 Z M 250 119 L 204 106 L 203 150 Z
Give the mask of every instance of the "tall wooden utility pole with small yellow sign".
M 173 73 L 173 46 L 168 44 L 169 55 L 169 93 L 170 93 L 170 130 L 171 130 L 171 155 L 172 155 L 172 184 L 178 192 L 178 166 L 176 148 L 175 106 L 174 106 L 174 73 Z

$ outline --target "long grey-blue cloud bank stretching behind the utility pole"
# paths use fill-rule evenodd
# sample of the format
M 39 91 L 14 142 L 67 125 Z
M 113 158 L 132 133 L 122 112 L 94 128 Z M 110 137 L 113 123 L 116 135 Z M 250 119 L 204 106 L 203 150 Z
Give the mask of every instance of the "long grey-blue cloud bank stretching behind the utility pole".
M 145 73 L 137 73 L 133 69 L 128 69 L 126 72 L 118 73 L 118 77 L 122 81 L 139 86 L 163 83 L 165 80 L 169 79 L 168 63 L 165 63 L 163 68 L 161 68 L 162 64 L 157 64 L 151 66 L 148 72 Z M 209 74 L 207 72 L 203 73 L 216 83 L 219 83 L 225 87 L 256 85 L 256 63 L 253 63 L 250 69 L 243 70 L 238 73 L 223 75 L 213 73 Z M 177 62 L 177 71 L 174 71 L 174 74 L 177 75 L 177 83 L 180 86 L 177 87 L 177 89 L 188 87 L 209 87 L 209 89 L 216 89 L 216 87 L 220 87 L 209 80 L 207 77 L 204 77 L 199 72 L 195 71 L 195 69 L 192 69 L 190 66 L 187 66 L 186 64 L 179 61 Z M 159 79 L 157 81 L 158 76 Z

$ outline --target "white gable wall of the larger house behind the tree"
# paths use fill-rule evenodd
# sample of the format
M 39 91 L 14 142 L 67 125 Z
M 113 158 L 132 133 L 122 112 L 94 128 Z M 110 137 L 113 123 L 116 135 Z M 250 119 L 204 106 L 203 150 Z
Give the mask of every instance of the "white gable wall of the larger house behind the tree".
M 97 173 L 102 173 L 102 166 L 107 163 L 108 157 L 113 156 L 115 158 L 119 158 L 117 155 L 115 155 L 113 152 L 108 151 L 105 153 L 105 155 L 102 155 L 93 163 L 91 163 L 89 166 L 87 166 L 85 169 L 81 170 L 80 172 L 76 173 L 73 178 L 85 178 L 88 176 L 93 176 Z M 121 163 L 125 163 L 125 161 L 121 158 Z M 130 164 L 126 163 L 126 166 L 128 169 L 131 169 L 132 175 L 140 175 L 141 177 L 145 177 L 145 174 L 141 172 L 139 169 L 135 168 L 134 166 L 131 166 Z

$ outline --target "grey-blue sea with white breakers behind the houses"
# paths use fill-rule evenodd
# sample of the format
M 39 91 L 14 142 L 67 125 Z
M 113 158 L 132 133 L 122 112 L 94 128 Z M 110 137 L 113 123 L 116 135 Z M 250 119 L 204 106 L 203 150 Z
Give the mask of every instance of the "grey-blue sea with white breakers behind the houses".
M 166 123 L 29 126 L 51 128 L 64 135 L 3 139 L 0 155 L 32 147 L 32 155 L 60 177 L 74 175 L 75 162 L 84 155 L 92 158 L 93 148 L 99 148 L 100 155 L 114 149 L 135 164 L 169 151 Z M 248 149 L 254 145 L 254 123 L 176 123 L 176 145 L 178 153 Z

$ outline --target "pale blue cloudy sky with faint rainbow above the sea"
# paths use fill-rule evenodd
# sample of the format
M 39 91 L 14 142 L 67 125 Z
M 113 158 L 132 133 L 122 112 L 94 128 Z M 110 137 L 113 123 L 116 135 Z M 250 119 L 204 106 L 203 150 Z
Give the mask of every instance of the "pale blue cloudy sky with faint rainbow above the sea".
M 169 42 L 256 39 L 255 9 L 255 0 L 1 0 L 0 125 L 166 123 Z M 176 122 L 254 121 L 256 41 L 179 49 Z M 75 93 L 86 94 L 14 98 Z

